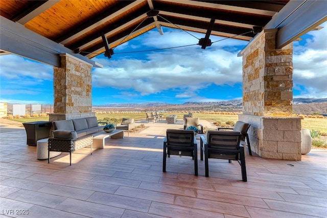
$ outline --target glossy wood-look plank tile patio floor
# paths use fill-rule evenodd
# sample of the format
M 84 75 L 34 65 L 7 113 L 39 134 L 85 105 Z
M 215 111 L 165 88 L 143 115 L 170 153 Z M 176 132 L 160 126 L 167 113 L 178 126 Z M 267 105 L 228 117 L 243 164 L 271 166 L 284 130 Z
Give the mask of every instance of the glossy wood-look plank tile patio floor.
M 247 179 L 238 162 L 209 159 L 209 176 L 198 159 L 171 156 L 162 173 L 166 129 L 149 128 L 105 149 L 81 149 L 37 160 L 24 128 L 1 127 L 0 217 L 327 217 L 327 150 L 302 161 L 246 155 Z M 201 120 L 204 126 L 209 122 Z M 19 215 L 26 213 L 28 215 Z

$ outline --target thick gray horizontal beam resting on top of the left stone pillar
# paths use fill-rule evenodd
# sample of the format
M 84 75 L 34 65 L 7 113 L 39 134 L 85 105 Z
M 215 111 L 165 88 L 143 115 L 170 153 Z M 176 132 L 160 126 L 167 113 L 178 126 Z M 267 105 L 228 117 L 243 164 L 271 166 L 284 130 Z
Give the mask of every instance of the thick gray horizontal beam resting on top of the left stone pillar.
M 26 29 L 20 23 L 13 22 L 3 16 L 0 26 L 0 50 L 15 55 L 26 57 L 32 60 L 61 67 L 59 54 L 66 53 L 94 67 L 103 67 L 101 64 L 88 59 L 72 50 L 67 49 L 62 44 L 58 44 L 48 38 Z

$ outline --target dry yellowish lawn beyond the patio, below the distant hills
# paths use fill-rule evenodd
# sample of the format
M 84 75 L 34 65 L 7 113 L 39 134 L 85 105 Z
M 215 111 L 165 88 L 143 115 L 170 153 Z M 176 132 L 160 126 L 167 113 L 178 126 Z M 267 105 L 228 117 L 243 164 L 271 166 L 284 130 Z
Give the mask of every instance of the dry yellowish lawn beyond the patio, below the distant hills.
M 170 112 L 164 113 L 165 117 L 170 114 L 176 114 L 177 119 L 183 119 L 185 113 Z M 98 119 L 104 118 L 134 118 L 134 119 L 145 119 L 145 113 L 97 113 Z M 233 121 L 234 123 L 238 120 L 238 115 L 235 114 L 210 114 L 210 113 L 194 113 L 194 117 L 199 117 L 200 119 L 213 120 L 216 122 L 226 123 L 227 121 Z M 21 123 L 35 122 L 35 121 L 49 121 L 49 117 L 31 117 L 31 118 L 18 118 L 12 119 Z M 320 133 L 327 135 L 327 118 L 309 118 L 305 117 L 301 120 L 302 128 L 309 130 L 319 130 Z

